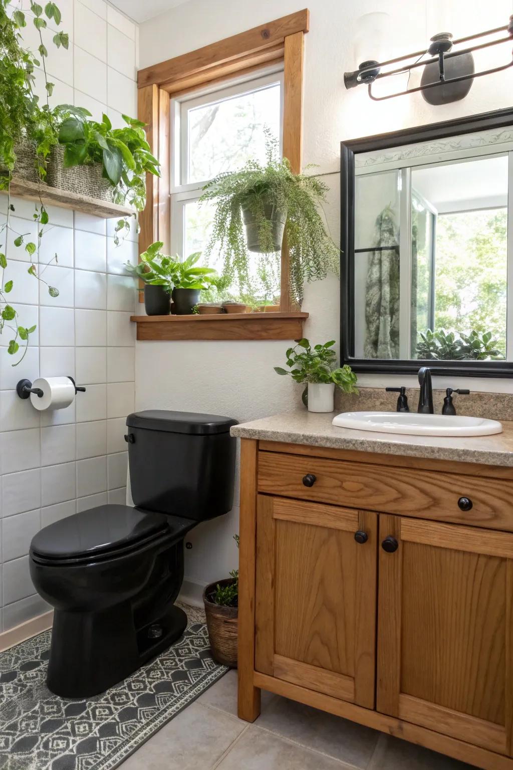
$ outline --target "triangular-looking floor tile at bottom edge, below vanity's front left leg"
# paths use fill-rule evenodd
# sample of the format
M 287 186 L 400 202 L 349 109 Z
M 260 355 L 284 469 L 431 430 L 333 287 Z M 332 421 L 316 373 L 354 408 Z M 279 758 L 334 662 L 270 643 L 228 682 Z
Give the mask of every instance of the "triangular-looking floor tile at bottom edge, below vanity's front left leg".
M 251 725 L 217 770 L 343 770 L 345 765 Z

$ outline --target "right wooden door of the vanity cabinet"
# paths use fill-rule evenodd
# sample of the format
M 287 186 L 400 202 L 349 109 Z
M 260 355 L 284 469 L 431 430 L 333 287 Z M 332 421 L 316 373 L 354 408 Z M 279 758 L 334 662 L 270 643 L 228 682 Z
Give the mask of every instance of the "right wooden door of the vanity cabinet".
M 378 711 L 511 755 L 513 534 L 383 514 Z

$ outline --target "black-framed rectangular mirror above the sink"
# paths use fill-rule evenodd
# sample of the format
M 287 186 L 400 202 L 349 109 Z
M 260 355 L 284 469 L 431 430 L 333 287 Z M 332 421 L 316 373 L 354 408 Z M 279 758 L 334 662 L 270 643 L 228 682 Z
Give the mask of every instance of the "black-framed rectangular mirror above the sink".
M 513 377 L 508 283 L 513 109 L 341 142 L 342 363 Z

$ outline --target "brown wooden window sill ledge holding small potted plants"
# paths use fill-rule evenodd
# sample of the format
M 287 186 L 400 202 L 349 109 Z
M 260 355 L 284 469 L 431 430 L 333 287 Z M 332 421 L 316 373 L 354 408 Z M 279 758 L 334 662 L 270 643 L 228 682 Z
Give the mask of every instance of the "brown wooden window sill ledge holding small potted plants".
M 298 340 L 308 313 L 131 316 L 138 340 Z

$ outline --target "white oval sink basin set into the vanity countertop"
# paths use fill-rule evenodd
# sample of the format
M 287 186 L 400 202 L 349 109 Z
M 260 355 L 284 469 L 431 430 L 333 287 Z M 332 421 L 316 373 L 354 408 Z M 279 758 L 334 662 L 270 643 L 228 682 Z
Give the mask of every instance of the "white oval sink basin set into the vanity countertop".
M 497 420 L 417 412 L 342 412 L 333 418 L 333 425 L 410 436 L 491 436 L 502 433 L 501 423 Z

